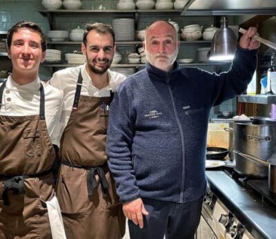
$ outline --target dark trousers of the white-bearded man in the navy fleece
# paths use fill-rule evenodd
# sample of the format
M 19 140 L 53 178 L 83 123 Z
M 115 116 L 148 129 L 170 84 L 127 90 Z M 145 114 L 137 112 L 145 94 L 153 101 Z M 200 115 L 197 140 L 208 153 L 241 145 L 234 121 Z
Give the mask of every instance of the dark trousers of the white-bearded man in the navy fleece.
M 131 239 L 193 239 L 199 225 L 203 196 L 186 203 L 142 198 L 149 215 L 140 229 L 128 220 Z

